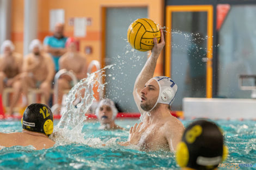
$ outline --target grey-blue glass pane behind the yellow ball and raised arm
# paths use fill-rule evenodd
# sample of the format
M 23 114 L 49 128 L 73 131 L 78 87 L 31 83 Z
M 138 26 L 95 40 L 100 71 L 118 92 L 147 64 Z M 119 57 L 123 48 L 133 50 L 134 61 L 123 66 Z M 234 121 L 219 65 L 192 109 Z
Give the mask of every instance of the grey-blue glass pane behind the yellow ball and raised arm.
M 139 52 L 127 42 L 127 29 L 137 18 L 147 18 L 147 8 L 107 8 L 106 11 L 106 97 L 124 112 L 138 112 L 132 91 L 135 79 L 147 61 L 147 52 Z

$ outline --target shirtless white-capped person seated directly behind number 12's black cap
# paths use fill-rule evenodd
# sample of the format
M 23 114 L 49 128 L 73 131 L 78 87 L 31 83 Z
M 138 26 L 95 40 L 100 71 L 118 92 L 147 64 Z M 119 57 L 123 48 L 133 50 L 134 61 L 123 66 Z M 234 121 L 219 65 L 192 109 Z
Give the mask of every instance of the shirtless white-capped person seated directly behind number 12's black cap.
M 44 97 L 42 103 L 48 104 L 54 76 L 54 64 L 51 56 L 42 52 L 41 49 L 42 45 L 39 40 L 33 40 L 29 45 L 31 53 L 25 57 L 21 75 L 22 90 L 27 97 L 29 87 L 40 89 Z

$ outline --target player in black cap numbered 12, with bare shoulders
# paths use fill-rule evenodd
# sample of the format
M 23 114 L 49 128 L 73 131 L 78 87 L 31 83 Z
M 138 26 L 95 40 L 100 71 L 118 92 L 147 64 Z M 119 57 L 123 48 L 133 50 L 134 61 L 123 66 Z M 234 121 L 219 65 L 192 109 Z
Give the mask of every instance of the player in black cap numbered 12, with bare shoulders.
M 55 142 L 48 138 L 53 131 L 53 115 L 45 104 L 34 103 L 29 105 L 23 113 L 22 132 L 0 133 L 0 146 L 29 146 L 36 150 L 52 147 Z

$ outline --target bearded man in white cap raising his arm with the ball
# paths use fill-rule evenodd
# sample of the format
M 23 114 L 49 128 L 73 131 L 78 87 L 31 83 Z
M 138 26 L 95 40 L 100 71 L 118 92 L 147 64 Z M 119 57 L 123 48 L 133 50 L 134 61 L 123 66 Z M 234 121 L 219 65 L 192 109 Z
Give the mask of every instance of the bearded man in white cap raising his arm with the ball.
M 178 86 L 169 77 L 154 77 L 156 61 L 164 47 L 163 31 L 161 40 L 154 47 L 151 55 L 139 73 L 133 97 L 141 112 L 141 123 L 130 129 L 127 142 L 123 146 L 137 145 L 142 150 L 175 150 L 181 140 L 184 125 L 170 114 L 170 105 L 176 95 Z

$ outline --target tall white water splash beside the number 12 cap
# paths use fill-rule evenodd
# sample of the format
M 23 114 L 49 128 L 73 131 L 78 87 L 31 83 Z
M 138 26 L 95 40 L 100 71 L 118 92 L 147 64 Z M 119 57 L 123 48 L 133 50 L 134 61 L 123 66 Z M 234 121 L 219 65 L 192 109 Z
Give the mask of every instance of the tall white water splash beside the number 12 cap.
M 54 133 L 50 136 L 59 144 L 67 143 L 88 143 L 84 140 L 82 128 L 87 117 L 84 116 L 90 106 L 95 101 L 93 87 L 97 91 L 103 90 L 107 83 L 102 84 L 102 77 L 106 76 L 105 70 L 111 69 L 114 65 L 108 65 L 92 74 L 87 74 L 87 78 L 80 80 L 69 91 L 66 97 L 66 110 L 59 123 L 54 127 Z M 80 102 L 74 105 L 74 101 L 79 98 Z M 95 141 L 94 141 L 95 142 Z M 96 142 L 101 143 L 101 142 Z

